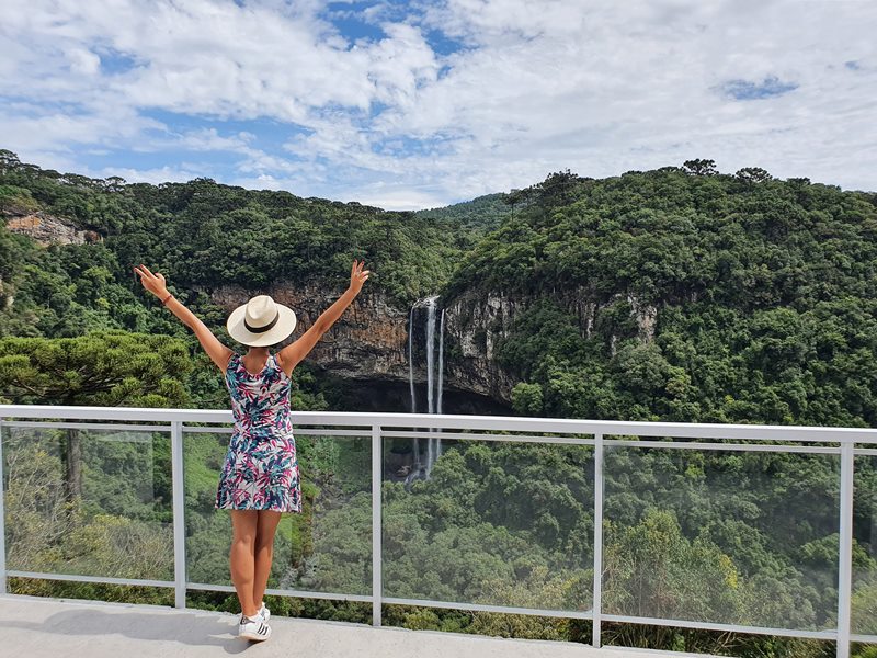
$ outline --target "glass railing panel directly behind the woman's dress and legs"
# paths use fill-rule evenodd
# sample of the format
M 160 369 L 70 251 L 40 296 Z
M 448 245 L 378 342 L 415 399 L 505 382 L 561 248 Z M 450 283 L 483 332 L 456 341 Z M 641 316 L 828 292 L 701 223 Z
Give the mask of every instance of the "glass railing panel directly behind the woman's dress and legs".
M 190 582 L 231 585 L 231 515 L 216 510 L 230 433 L 184 434 L 186 574 Z M 284 513 L 269 588 L 372 591 L 372 439 L 296 433 L 303 513 Z

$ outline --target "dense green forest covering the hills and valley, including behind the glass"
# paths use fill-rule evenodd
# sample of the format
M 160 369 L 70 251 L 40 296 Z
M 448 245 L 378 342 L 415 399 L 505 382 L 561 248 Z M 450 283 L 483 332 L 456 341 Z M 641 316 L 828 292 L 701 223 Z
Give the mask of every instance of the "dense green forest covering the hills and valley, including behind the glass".
M 208 179 L 94 180 L 0 151 L 0 213 L 35 212 L 102 239 L 41 247 L 0 226 L 0 401 L 227 408 L 218 371 L 130 264 L 166 273 L 232 344 L 212 290 L 307 279 L 340 293 L 358 257 L 375 272 L 369 285 L 403 309 L 426 294 L 445 305 L 478 291 L 532 300 L 497 348 L 519 381 L 511 401 L 521 415 L 877 428 L 874 193 L 693 160 L 603 180 L 561 171 L 508 194 L 394 213 Z M 337 384 L 311 364 L 296 375 L 295 409 L 335 399 Z M 186 435 L 195 582 L 230 583 L 228 518 L 212 508 L 227 439 Z M 167 434 L 8 428 L 3 441 L 10 568 L 171 576 Z M 368 593 L 371 443 L 297 442 L 306 509 L 283 521 L 270 587 Z M 384 483 L 385 594 L 588 610 L 593 449 L 447 443 L 429 480 Z M 859 455 L 855 469 L 853 629 L 873 635 L 877 458 Z M 835 623 L 836 455 L 613 446 L 604 470 L 605 613 Z M 35 481 L 39 496 L 29 495 Z M 167 601 L 157 590 L 13 580 L 33 593 Z M 236 605 L 227 594 L 190 600 Z M 277 599 L 272 610 L 371 616 L 342 602 Z M 394 605 L 385 614 L 412 628 L 590 642 L 576 621 Z M 605 624 L 604 642 L 833 655 L 817 640 L 630 624 Z

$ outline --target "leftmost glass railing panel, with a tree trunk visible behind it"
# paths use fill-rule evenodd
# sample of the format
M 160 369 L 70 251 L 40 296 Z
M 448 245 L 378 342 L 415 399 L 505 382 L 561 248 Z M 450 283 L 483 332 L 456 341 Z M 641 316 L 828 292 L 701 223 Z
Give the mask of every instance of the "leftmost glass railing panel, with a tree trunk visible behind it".
M 173 580 L 169 432 L 4 426 L 2 440 L 9 569 Z

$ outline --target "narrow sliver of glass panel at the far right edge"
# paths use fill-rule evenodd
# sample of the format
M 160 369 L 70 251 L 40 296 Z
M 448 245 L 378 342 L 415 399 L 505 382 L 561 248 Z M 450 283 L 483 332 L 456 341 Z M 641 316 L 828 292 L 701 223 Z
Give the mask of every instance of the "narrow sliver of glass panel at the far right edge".
M 877 636 L 877 456 L 856 456 L 853 483 L 853 633 Z

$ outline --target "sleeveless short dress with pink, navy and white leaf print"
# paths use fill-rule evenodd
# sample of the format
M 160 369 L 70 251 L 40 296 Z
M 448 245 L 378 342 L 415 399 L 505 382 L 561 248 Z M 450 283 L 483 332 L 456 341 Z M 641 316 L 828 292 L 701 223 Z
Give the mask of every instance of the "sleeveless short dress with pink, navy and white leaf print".
M 239 354 L 228 360 L 226 386 L 235 429 L 219 475 L 215 509 L 301 511 L 291 383 L 274 354 L 258 375 L 247 371 Z

